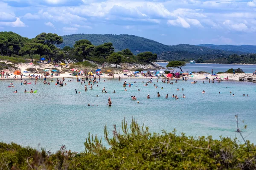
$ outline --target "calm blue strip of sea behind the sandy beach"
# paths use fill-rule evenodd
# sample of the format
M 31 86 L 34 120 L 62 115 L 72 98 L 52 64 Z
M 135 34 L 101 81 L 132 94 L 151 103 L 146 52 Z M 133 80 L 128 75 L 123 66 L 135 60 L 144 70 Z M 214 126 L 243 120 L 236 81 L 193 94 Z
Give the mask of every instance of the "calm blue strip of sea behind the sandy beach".
M 166 65 L 168 62 L 157 62 L 162 67 L 166 68 Z M 190 64 L 187 63 L 186 66 L 182 67 L 183 71 L 205 71 L 207 73 L 211 73 L 212 69 L 214 73 L 218 72 L 225 72 L 230 68 L 241 68 L 244 73 L 253 73 L 253 71 L 256 71 L 256 65 L 246 65 L 246 64 L 201 64 L 201 63 L 195 63 Z M 175 68 L 175 71 L 180 71 L 179 68 Z

